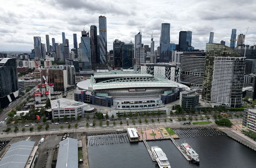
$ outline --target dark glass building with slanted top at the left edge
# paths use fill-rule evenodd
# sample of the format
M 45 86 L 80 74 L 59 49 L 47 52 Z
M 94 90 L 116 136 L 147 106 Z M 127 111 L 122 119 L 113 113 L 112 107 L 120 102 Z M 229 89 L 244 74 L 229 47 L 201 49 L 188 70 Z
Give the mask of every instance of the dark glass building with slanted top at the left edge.
M 15 58 L 0 59 L 0 83 L 0 108 L 4 108 L 18 96 L 18 75 Z

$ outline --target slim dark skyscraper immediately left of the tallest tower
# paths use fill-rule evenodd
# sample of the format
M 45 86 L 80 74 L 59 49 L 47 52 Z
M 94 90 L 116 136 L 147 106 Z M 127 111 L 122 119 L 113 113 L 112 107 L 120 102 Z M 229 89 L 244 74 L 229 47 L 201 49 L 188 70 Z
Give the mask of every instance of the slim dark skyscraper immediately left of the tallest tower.
M 96 25 L 90 27 L 90 38 L 91 38 L 91 57 L 92 57 L 92 68 L 94 69 L 96 64 L 99 63 L 98 55 L 98 37 Z

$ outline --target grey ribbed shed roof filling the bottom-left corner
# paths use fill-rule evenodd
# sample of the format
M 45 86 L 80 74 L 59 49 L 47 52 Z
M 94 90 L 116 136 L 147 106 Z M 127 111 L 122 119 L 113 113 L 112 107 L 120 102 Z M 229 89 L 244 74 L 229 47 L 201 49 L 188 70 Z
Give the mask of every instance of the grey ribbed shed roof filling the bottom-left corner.
M 11 144 L 4 157 L 0 160 L 0 168 L 25 167 L 34 145 L 34 141 L 19 141 Z

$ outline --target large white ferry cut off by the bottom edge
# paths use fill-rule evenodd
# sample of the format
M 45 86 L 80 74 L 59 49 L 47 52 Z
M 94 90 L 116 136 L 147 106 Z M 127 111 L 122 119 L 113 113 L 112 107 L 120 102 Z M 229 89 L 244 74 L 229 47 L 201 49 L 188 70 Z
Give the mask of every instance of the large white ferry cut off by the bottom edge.
M 159 148 L 158 146 L 153 146 L 151 147 L 151 151 L 155 156 L 158 166 L 160 168 L 170 168 L 170 163 L 161 148 Z

